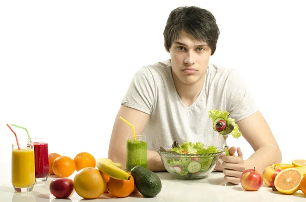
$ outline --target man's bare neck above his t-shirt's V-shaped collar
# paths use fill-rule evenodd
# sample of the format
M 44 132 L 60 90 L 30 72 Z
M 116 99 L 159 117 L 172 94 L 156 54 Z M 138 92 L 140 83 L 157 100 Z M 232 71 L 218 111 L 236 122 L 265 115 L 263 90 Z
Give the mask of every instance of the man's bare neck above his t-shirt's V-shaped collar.
M 192 103 L 194 103 L 202 91 L 205 81 L 205 74 L 193 84 L 183 83 L 174 73 L 172 74 L 177 94 L 179 94 L 184 105 L 189 107 Z

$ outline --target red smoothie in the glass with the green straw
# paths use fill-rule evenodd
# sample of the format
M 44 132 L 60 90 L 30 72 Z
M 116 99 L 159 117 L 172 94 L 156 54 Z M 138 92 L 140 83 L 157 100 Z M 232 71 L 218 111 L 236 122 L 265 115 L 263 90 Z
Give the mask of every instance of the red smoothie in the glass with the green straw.
M 35 155 L 35 178 L 45 178 L 49 175 L 48 143 L 33 143 Z

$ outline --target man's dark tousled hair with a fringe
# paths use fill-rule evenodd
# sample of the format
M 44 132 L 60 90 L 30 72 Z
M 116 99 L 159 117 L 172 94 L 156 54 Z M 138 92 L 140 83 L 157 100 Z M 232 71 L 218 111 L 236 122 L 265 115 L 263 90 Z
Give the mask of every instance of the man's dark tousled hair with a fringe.
M 185 31 L 193 38 L 208 43 L 214 54 L 220 34 L 213 14 L 199 7 L 179 7 L 171 11 L 164 30 L 166 49 L 169 51 L 174 40 L 180 38 L 180 32 Z

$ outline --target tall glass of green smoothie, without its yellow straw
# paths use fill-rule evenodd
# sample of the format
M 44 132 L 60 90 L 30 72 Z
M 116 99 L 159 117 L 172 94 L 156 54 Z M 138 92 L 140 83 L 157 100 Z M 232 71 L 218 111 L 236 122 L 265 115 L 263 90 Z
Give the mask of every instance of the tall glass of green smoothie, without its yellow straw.
M 144 135 L 126 138 L 126 170 L 131 171 L 136 165 L 147 168 L 147 144 Z

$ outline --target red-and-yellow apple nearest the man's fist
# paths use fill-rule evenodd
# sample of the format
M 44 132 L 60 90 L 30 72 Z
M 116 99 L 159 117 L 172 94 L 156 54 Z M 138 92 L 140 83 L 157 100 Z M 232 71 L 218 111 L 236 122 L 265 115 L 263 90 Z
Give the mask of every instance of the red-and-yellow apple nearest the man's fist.
M 262 174 L 254 169 L 244 170 L 240 177 L 241 186 L 247 191 L 257 191 L 264 180 Z

